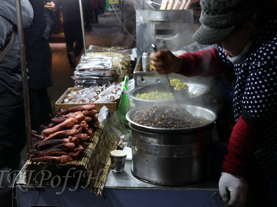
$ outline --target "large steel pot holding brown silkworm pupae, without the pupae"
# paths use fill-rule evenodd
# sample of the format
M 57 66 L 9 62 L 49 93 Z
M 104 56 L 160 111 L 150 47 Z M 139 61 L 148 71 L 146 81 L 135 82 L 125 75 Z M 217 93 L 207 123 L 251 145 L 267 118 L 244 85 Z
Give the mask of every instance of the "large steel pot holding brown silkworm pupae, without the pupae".
M 145 106 L 144 106 L 145 107 Z M 130 117 L 132 129 L 132 174 L 139 180 L 165 186 L 182 186 L 205 180 L 216 114 L 206 108 L 181 105 L 192 115 L 211 122 L 192 128 L 162 129 L 139 125 Z

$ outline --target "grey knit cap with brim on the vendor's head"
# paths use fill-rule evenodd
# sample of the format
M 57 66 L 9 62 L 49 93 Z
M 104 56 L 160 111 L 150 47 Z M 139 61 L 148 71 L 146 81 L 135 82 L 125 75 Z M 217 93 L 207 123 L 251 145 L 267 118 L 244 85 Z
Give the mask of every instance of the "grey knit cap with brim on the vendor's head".
M 201 26 L 193 39 L 203 45 L 221 42 L 249 17 L 249 4 L 249 0 L 200 0 Z

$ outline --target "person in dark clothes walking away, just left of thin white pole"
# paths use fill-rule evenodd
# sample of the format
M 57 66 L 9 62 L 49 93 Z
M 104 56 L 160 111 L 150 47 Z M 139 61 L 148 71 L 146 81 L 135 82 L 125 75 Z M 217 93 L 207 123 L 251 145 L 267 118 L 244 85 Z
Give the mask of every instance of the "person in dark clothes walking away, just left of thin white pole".
M 63 15 L 63 32 L 65 33 L 66 52 L 70 67 L 76 67 L 76 57 L 83 50 L 81 14 L 78 0 L 56 0 L 56 12 Z M 74 45 L 75 43 L 75 45 Z

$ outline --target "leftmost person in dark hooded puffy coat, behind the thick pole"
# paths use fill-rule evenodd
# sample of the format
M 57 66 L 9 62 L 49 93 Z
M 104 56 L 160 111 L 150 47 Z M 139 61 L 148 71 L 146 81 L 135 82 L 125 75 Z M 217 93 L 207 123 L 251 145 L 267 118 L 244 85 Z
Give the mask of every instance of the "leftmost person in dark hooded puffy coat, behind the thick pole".
M 26 144 L 24 101 L 21 79 L 16 5 L 0 0 L 0 55 L 14 38 L 0 61 L 0 206 L 12 206 L 12 181 L 23 167 L 20 152 Z M 28 0 L 21 0 L 22 23 L 26 28 L 33 18 Z M 27 153 L 27 152 L 26 152 Z

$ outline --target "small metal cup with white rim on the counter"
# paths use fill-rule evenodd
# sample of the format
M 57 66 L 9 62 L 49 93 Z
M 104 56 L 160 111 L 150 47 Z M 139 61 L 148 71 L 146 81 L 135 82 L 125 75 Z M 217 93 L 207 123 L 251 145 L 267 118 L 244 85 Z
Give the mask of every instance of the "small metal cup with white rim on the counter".
M 125 166 L 127 152 L 122 150 L 113 150 L 110 152 L 111 169 L 114 172 L 122 172 Z

